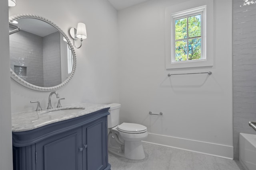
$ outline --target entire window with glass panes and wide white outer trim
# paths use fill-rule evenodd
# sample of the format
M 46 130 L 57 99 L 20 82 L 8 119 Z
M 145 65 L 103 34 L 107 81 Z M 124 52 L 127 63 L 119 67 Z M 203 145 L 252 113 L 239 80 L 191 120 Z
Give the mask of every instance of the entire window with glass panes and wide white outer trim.
M 166 8 L 166 69 L 213 66 L 213 11 L 213 0 Z

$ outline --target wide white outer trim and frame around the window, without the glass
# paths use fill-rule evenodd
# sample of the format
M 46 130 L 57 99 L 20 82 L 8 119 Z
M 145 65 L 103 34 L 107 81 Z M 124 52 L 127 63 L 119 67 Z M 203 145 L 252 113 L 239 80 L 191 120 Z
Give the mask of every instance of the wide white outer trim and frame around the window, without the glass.
M 166 69 L 213 66 L 214 60 L 213 0 L 190 0 L 166 8 Z M 175 20 L 201 12 L 201 59 L 175 61 Z

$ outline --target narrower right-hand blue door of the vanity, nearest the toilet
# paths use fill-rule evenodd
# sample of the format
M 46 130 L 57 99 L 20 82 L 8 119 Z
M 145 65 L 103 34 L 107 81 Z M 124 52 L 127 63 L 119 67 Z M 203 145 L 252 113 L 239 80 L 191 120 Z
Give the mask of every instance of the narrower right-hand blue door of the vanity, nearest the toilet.
M 106 117 L 102 117 L 82 127 L 83 170 L 104 170 L 107 167 Z

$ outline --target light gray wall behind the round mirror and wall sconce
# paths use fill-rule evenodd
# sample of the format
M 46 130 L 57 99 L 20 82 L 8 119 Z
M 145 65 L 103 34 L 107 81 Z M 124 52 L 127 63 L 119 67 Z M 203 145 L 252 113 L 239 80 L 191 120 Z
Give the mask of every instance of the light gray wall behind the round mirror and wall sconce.
M 76 10 L 56 12 L 57 8 L 68 9 L 70 6 L 76 6 Z M 117 12 L 108 0 L 22 0 L 22 3 L 17 0 L 17 6 L 9 8 L 9 16 L 15 14 L 47 18 L 68 37 L 71 27 L 77 27 L 78 22 L 86 24 L 88 37 L 80 49 L 75 49 L 76 72 L 68 84 L 56 90 L 61 98 L 66 98 L 62 105 L 119 102 Z M 76 43 L 79 45 L 79 41 Z M 41 107 L 46 108 L 49 94 L 31 90 L 11 79 L 12 112 L 36 109 L 29 102 L 31 100 L 38 100 Z M 56 107 L 57 103 L 58 100 L 52 98 L 52 106 Z

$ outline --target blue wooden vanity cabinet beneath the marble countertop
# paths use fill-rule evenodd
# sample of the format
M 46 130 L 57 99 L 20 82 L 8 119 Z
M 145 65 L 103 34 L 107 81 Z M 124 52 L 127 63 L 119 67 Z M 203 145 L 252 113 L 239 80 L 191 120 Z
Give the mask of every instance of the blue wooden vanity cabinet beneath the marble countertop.
M 108 108 L 13 132 L 14 170 L 110 170 Z

